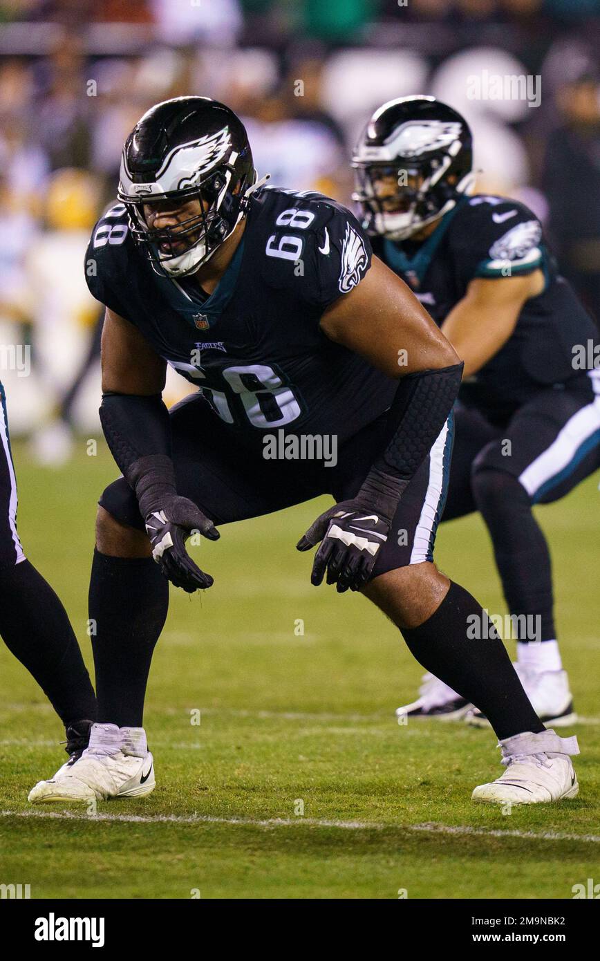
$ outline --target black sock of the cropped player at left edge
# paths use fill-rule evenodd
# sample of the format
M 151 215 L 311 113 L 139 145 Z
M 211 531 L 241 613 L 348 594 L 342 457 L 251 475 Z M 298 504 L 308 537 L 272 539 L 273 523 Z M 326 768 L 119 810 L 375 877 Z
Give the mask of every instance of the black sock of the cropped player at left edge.
M 65 727 L 95 720 L 96 698 L 66 611 L 28 560 L 0 570 L 0 635 Z

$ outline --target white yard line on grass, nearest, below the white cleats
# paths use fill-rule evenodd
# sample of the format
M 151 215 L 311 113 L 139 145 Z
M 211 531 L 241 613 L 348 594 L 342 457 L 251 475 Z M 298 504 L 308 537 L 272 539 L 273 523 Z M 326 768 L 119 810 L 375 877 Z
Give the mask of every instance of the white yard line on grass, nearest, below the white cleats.
M 426 834 L 458 834 L 473 837 L 522 838 L 526 841 L 581 841 L 586 844 L 600 844 L 597 834 L 564 834 L 561 831 L 519 831 L 490 827 L 470 827 L 468 825 L 394 825 L 367 821 L 327 821 L 319 818 L 219 818 L 212 814 L 95 814 L 87 815 L 75 811 L 0 811 L 0 818 L 34 818 L 52 821 L 108 821 L 123 824 L 170 824 L 170 825 L 246 825 L 250 827 L 339 827 L 343 830 L 394 830 Z

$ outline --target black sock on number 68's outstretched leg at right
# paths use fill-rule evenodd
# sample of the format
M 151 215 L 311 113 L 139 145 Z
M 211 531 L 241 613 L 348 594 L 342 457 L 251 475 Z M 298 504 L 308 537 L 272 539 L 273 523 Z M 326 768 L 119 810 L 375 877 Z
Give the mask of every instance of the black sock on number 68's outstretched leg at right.
M 469 636 L 477 629 L 477 638 Z M 418 628 L 402 631 L 419 664 L 486 715 L 498 740 L 544 726 L 481 604 L 459 584 Z

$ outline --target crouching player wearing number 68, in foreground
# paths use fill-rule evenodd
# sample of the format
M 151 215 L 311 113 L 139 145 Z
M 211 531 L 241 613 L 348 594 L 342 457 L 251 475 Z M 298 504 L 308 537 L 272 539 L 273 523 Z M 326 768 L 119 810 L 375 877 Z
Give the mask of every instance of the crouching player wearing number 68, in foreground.
M 576 740 L 543 727 L 481 605 L 433 562 L 462 364 L 348 210 L 256 176 L 233 111 L 166 101 L 128 137 L 120 204 L 92 234 L 87 280 L 107 308 L 100 416 L 123 472 L 100 501 L 89 589 L 100 723 L 32 800 L 153 789 L 142 709 L 167 579 L 213 583 L 186 539 L 323 493 L 336 504 L 297 545 L 320 541 L 312 583 L 361 590 L 500 739 L 507 771 L 474 799 L 574 797 Z M 198 387 L 170 411 L 167 363 Z M 337 443 L 335 465 L 292 459 L 315 438 Z

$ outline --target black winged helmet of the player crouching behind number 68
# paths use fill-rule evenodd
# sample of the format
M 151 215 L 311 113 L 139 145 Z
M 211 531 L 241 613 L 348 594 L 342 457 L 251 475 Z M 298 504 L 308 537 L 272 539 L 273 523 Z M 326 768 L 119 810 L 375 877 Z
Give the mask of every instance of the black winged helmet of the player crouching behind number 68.
M 470 192 L 471 132 L 459 112 L 435 97 L 400 97 L 373 113 L 352 166 L 363 227 L 405 240 Z

